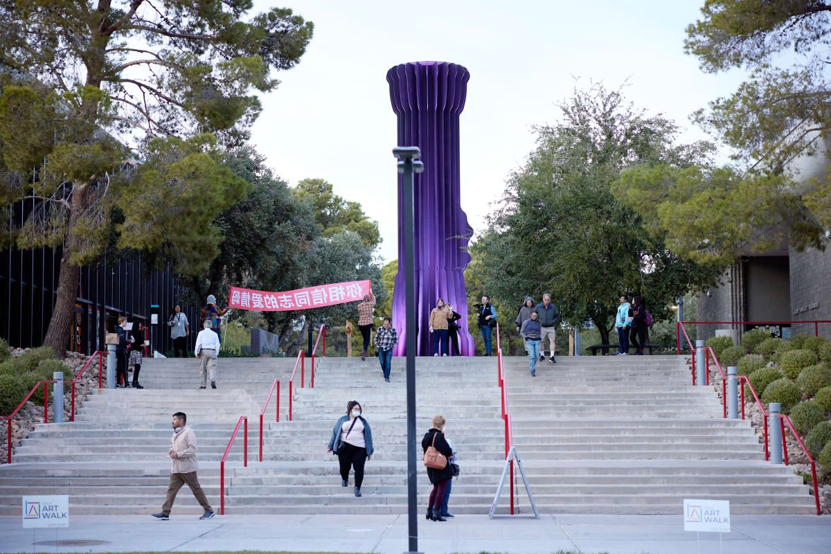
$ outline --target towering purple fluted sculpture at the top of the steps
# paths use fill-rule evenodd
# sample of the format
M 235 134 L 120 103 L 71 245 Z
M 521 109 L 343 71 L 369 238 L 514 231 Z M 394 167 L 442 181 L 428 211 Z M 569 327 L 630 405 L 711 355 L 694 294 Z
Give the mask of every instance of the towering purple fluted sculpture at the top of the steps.
M 467 244 L 473 229 L 460 204 L 459 114 L 465 108 L 470 72 L 444 61 L 417 61 L 392 67 L 392 110 L 398 115 L 399 146 L 418 146 L 424 173 L 415 178 L 416 221 L 416 344 L 418 355 L 432 354 L 430 310 L 443 298 L 460 314 L 459 346 L 462 355 L 474 354 L 468 332 L 465 267 L 470 262 Z M 398 176 L 398 205 L 403 180 Z M 404 216 L 398 213 L 398 275 L 392 297 L 392 321 L 399 334 L 393 355 L 405 355 Z

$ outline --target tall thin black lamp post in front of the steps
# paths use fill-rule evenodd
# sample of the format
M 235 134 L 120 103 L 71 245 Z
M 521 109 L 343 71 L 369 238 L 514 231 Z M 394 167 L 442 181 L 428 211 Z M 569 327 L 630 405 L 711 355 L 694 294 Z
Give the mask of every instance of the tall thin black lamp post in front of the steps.
M 413 173 L 424 171 L 424 163 L 416 161 L 421 150 L 418 146 L 399 146 L 392 149 L 398 158 L 398 173 L 404 174 L 404 194 L 401 206 L 404 211 L 404 294 L 406 296 L 406 356 L 407 356 L 407 515 L 408 554 L 418 552 L 418 491 L 416 488 L 416 223 L 413 208 Z

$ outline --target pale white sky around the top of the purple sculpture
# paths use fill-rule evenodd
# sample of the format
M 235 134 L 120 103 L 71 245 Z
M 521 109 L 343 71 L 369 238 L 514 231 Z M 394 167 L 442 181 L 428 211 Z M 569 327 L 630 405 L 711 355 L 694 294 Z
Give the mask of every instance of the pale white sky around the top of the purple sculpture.
M 584 2 L 255 2 L 291 7 L 315 24 L 306 54 L 263 97 L 252 142 L 289 184 L 322 178 L 381 228 L 378 255 L 398 257 L 396 117 L 386 71 L 451 61 L 470 71 L 460 118 L 462 208 L 485 227 L 511 170 L 534 149 L 532 125 L 558 120 L 578 86 L 628 80 L 628 100 L 706 138 L 689 115 L 735 90 L 743 73 L 710 75 L 683 51 L 704 0 Z

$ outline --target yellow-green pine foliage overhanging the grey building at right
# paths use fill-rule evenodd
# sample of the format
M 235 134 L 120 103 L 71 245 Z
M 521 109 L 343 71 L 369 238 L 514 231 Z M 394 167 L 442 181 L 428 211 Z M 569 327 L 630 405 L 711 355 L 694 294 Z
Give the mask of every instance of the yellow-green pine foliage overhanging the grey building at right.
M 784 238 L 798 249 L 824 248 L 831 162 L 813 182 L 799 182 L 792 162 L 827 157 L 831 144 L 831 5 L 706 0 L 701 14 L 686 29 L 686 52 L 703 71 L 750 71 L 733 94 L 693 115 L 731 147 L 737 165 L 639 168 L 628 176 L 628 196 L 641 199 L 637 210 L 669 233 L 675 252 L 700 262 L 730 262 Z

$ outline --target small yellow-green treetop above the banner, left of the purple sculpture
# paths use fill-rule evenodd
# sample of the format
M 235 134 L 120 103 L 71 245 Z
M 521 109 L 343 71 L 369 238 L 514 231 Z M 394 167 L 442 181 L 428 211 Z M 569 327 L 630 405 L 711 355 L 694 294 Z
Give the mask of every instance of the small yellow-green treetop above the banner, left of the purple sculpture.
M 323 179 L 303 179 L 292 189 L 295 198 L 312 207 L 315 220 L 324 237 L 342 231 L 357 233 L 366 248 L 375 250 L 381 244 L 378 223 L 366 217 L 361 203 L 349 202 L 332 192 L 332 184 Z

